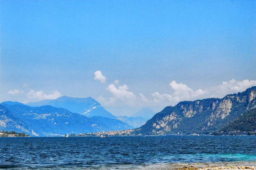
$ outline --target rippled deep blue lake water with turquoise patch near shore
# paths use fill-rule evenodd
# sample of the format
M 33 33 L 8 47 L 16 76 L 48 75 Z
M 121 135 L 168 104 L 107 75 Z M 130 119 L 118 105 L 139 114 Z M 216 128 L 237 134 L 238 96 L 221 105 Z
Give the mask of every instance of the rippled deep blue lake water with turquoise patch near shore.
M 0 138 L 1 169 L 137 169 L 256 162 L 256 136 Z

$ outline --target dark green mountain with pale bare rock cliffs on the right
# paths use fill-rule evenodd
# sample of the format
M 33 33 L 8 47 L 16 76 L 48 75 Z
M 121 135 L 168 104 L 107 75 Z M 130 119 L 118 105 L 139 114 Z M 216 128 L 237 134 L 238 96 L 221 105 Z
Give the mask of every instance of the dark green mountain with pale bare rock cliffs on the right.
M 179 102 L 168 106 L 136 133 L 211 133 L 256 108 L 256 86 L 238 94 L 229 94 L 222 99 L 202 99 Z

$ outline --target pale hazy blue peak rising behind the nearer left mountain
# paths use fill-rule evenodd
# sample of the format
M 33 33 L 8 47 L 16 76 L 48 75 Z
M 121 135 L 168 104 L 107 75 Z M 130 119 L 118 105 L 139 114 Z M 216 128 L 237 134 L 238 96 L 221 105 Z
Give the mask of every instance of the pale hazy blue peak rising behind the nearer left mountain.
M 84 116 L 103 116 L 108 118 L 115 118 L 113 114 L 106 111 L 103 106 L 91 97 L 76 98 L 69 96 L 61 96 L 57 99 L 47 99 L 41 102 L 34 102 L 26 104 L 28 106 L 44 106 L 50 105 L 55 108 L 64 108 L 73 113 L 79 113 Z

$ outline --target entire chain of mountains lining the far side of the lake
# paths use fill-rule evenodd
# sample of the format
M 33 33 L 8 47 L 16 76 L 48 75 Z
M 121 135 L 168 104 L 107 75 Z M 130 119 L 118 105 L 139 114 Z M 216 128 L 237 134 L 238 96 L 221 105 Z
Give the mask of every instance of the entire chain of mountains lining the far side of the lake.
M 73 113 L 67 108 L 78 113 Z M 43 100 L 27 105 L 19 102 L 2 102 L 0 130 L 14 130 L 31 136 L 60 136 L 66 133 L 138 127 L 135 130 L 137 134 L 209 134 L 221 128 L 233 130 L 254 128 L 255 110 L 252 110 L 254 108 L 256 108 L 256 86 L 238 94 L 229 94 L 222 99 L 179 102 L 173 107 L 164 108 L 151 119 L 149 118 L 154 112 L 147 108 L 129 117 L 116 117 L 91 97 L 62 96 L 55 100 Z M 241 129 L 234 129 L 238 127 Z

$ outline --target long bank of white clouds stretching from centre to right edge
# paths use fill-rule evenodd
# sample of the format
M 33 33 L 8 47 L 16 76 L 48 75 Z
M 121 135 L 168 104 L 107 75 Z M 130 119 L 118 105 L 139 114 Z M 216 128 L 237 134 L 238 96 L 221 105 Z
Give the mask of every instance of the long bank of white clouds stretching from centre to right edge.
M 138 96 L 132 91 L 128 91 L 128 85 L 120 85 L 117 87 L 119 80 L 113 81 L 108 85 L 106 91 L 110 96 L 99 96 L 97 99 L 105 106 L 156 106 L 156 105 L 176 105 L 177 102 L 184 100 L 196 100 L 209 97 L 223 97 L 227 94 L 238 93 L 256 86 L 255 80 L 245 79 L 236 81 L 232 79 L 228 82 L 222 82 L 221 85 L 192 89 L 182 82 L 172 80 L 169 83 L 167 93 L 155 91 L 150 96 L 140 93 Z M 169 91 L 169 93 L 168 93 Z

